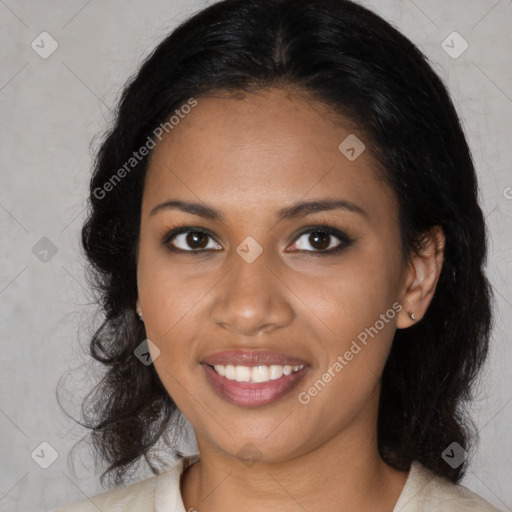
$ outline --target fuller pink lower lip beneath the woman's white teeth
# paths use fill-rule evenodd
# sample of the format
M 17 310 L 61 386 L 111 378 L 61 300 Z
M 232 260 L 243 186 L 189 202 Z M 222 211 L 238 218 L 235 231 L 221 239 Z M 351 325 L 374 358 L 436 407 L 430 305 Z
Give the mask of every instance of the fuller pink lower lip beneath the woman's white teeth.
M 289 393 L 307 372 L 307 366 L 290 375 L 268 382 L 237 382 L 218 374 L 211 366 L 202 365 L 214 391 L 226 402 L 241 407 L 269 405 Z

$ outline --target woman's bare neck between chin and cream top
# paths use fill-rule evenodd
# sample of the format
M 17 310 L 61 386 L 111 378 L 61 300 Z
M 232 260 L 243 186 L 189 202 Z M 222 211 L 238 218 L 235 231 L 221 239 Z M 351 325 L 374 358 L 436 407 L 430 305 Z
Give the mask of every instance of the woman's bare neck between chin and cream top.
M 243 503 L 247 512 L 392 512 L 408 476 L 381 459 L 376 422 L 366 429 L 354 423 L 280 462 L 244 464 L 199 436 L 198 445 L 201 460 L 182 477 L 185 510 L 224 512 Z

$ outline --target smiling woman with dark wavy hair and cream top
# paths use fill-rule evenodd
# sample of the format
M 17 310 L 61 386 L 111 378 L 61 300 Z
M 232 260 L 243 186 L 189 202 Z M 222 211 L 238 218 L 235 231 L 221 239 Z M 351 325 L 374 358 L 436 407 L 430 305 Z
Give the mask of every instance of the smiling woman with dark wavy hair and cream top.
M 226 0 L 174 30 L 82 232 L 87 426 L 119 488 L 61 510 L 497 510 L 458 483 L 491 323 L 477 195 L 445 86 L 365 8 Z M 123 486 L 141 458 L 157 476 Z

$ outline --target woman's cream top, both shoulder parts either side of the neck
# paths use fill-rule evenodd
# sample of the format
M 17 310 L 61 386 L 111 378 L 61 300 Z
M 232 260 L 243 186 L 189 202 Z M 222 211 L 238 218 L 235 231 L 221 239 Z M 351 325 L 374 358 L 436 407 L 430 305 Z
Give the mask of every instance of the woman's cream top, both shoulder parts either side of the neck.
M 106 491 L 55 512 L 187 512 L 180 494 L 180 476 L 198 460 L 199 455 L 184 457 L 165 473 Z M 414 461 L 393 512 L 447 511 L 501 512 L 467 487 L 438 477 Z

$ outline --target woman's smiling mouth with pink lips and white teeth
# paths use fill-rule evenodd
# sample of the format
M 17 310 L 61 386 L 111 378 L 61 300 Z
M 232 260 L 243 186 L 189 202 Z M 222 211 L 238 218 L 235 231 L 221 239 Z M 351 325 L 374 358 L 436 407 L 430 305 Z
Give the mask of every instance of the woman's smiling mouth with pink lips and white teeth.
M 201 366 L 213 391 L 240 407 L 278 401 L 298 385 L 309 369 L 301 360 L 269 351 L 225 351 L 206 358 Z

